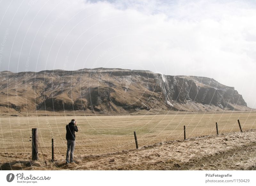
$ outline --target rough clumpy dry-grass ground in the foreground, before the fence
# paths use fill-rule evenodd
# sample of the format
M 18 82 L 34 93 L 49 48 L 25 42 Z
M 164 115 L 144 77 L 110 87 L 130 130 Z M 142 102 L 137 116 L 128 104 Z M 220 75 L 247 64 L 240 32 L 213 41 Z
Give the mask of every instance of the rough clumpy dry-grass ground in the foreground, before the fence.
M 75 151 L 76 152 L 76 151 Z M 26 155 L 23 154 L 26 159 Z M 13 157 L 14 154 L 1 154 Z M 27 157 L 28 158 L 28 157 Z M 9 161 L 2 170 L 256 170 L 256 130 L 194 137 L 111 154 L 78 155 L 40 161 Z

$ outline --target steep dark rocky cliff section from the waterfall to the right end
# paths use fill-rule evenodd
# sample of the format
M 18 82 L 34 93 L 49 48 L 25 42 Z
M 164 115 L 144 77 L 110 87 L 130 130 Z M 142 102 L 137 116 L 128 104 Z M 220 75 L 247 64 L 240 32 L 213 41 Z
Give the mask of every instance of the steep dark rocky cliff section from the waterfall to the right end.
M 219 110 L 217 107 L 221 110 L 243 110 L 247 107 L 242 95 L 238 94 L 234 87 L 222 85 L 214 79 L 197 76 L 162 75 L 162 77 L 167 103 L 178 101 L 186 105 L 192 102 L 192 105 L 198 104 L 199 108 L 202 105 L 207 107 L 210 105 L 216 110 Z

